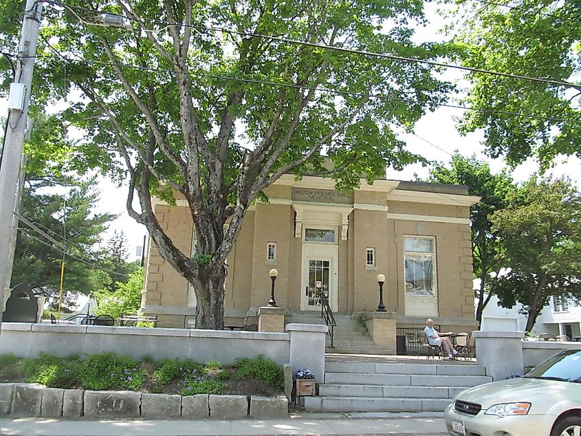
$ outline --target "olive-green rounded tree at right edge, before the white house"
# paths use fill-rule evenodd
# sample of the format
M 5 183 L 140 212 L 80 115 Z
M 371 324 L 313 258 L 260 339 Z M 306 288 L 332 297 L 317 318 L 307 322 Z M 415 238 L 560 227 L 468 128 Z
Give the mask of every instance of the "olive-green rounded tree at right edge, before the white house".
M 527 331 L 551 296 L 581 297 L 581 193 L 565 179 L 533 177 L 492 214 L 509 272 L 498 280 L 503 307 L 520 303 Z

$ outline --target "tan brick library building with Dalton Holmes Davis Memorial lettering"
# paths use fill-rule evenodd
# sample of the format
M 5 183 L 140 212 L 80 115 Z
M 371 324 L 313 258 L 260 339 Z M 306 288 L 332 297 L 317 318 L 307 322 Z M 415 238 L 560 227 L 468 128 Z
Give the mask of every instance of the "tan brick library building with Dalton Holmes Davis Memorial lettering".
M 384 304 L 397 327 L 427 317 L 446 329 L 476 326 L 469 217 L 478 197 L 464 186 L 362 180 L 346 195 L 331 179 L 285 175 L 266 193 L 270 202 L 248 210 L 228 257 L 226 325 L 267 305 L 276 268 L 276 303 L 288 315 L 320 312 L 322 294 L 333 312 L 373 312 L 377 274 L 384 274 Z M 156 204 L 155 214 L 179 248 L 194 252 L 185 204 Z M 155 246 L 142 312 L 166 327 L 188 327 L 195 313 L 193 290 Z

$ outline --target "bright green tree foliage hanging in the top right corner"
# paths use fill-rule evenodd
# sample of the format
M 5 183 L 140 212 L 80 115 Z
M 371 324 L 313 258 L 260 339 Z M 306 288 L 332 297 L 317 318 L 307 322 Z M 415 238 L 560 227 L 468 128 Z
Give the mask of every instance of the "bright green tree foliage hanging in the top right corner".
M 581 13 L 577 1 L 465 1 L 455 17 L 465 66 L 541 82 L 473 72 L 463 131 L 484 129 L 485 149 L 518 164 L 533 156 L 581 157 Z M 568 82 L 571 85 L 559 85 Z

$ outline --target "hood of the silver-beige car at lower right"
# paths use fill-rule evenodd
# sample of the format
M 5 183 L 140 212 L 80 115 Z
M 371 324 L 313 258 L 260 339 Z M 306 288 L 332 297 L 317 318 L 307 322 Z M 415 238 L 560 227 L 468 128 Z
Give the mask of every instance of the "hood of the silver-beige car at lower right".
M 459 393 L 457 400 L 480 404 L 486 409 L 492 404 L 505 402 L 534 402 L 538 398 L 547 399 L 555 391 L 556 383 L 553 380 L 538 380 L 535 378 L 512 378 L 476 386 Z M 567 389 L 568 386 L 564 386 Z M 575 386 L 579 389 L 579 386 Z

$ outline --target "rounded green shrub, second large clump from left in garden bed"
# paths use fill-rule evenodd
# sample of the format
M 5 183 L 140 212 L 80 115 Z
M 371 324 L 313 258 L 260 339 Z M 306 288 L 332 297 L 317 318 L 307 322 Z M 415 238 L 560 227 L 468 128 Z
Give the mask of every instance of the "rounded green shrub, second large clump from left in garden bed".
M 139 368 L 132 358 L 115 353 L 100 353 L 89 356 L 83 362 L 79 379 L 87 389 L 141 389 L 146 371 Z

